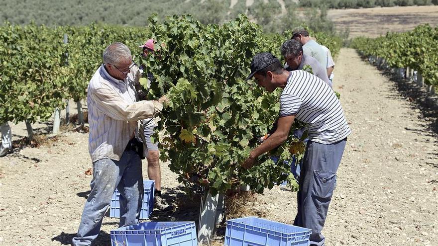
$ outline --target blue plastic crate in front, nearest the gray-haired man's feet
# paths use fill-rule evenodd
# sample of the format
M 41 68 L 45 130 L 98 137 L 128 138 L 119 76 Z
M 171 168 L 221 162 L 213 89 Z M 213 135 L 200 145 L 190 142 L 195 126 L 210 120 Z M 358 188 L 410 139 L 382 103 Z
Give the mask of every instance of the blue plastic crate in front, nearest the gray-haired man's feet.
M 195 222 L 143 222 L 110 232 L 111 246 L 198 246 Z

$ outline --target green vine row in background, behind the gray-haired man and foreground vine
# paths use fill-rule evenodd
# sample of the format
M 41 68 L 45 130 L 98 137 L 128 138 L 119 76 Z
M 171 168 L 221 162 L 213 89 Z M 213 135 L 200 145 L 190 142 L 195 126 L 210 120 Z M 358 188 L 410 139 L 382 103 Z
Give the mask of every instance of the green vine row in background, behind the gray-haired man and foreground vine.
M 264 49 L 277 55 L 281 43 L 290 36 L 290 31 L 275 35 L 266 35 L 260 30 L 256 33 L 259 50 Z M 65 34 L 68 37 L 67 43 L 64 43 Z M 110 43 L 125 43 L 136 55 L 141 52 L 138 45 L 152 37 L 149 27 L 105 24 L 52 28 L 6 23 L 0 26 L 0 35 L 0 122 L 28 123 L 48 120 L 55 108 L 65 107 L 68 98 L 75 101 L 84 99 L 88 82 L 102 63 L 102 52 Z M 316 33 L 315 36 L 320 43 L 330 48 L 333 55 L 337 54 L 341 45 L 339 38 L 326 33 Z M 228 41 L 236 42 L 232 39 Z M 180 48 L 185 49 L 184 46 Z M 236 49 L 250 50 L 249 47 Z M 219 44 L 216 50 L 220 50 Z M 171 52 L 161 55 L 168 56 Z M 241 66 L 235 69 L 247 68 Z

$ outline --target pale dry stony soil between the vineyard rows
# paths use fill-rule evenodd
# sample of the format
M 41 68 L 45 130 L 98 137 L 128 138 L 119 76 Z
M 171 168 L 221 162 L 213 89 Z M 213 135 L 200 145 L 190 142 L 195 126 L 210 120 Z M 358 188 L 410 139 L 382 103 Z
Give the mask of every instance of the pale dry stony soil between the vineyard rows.
M 412 83 L 391 81 L 351 49 L 341 50 L 334 73 L 353 133 L 324 229 L 327 245 L 437 246 L 437 99 Z M 24 125 L 12 131 L 24 134 Z M 69 131 L 0 158 L 0 245 L 70 244 L 92 178 L 85 174 L 91 168 L 87 141 L 88 134 Z M 197 201 L 187 202 L 166 164 L 162 176 L 165 198 L 185 204 L 153 220 L 196 220 Z M 295 196 L 275 187 L 246 206 L 292 223 Z M 96 245 L 109 245 L 116 227 L 117 219 L 105 218 Z

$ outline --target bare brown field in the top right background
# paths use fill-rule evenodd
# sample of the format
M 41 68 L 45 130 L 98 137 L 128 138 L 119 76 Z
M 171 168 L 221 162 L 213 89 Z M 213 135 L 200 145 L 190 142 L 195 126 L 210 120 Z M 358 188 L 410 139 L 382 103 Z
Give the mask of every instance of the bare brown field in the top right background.
M 360 9 L 331 9 L 329 19 L 338 30 L 349 28 L 350 38 L 356 36 L 376 37 L 387 31 L 404 32 L 419 24 L 438 24 L 438 5 L 375 7 Z

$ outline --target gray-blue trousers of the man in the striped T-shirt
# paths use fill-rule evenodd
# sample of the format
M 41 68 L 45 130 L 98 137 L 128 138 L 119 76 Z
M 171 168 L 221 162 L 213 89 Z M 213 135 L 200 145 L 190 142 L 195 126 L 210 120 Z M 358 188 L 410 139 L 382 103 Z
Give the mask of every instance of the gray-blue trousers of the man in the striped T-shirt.
M 309 141 L 301 168 L 298 198 L 298 213 L 294 225 L 312 229 L 312 246 L 324 246 L 321 231 L 326 222 L 327 212 L 336 171 L 346 144 L 346 138 L 333 144 Z

